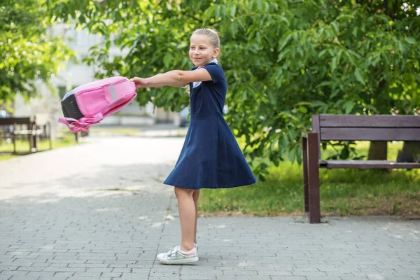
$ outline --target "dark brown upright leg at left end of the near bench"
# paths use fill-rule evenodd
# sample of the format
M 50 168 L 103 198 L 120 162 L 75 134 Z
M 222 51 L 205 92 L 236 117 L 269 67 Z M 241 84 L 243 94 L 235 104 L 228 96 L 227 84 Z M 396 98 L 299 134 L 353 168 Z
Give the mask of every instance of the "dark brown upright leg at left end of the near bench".
M 308 133 L 307 160 L 308 160 L 308 193 L 309 193 L 309 222 L 321 222 L 321 207 L 319 197 L 319 170 L 318 170 L 318 134 Z

